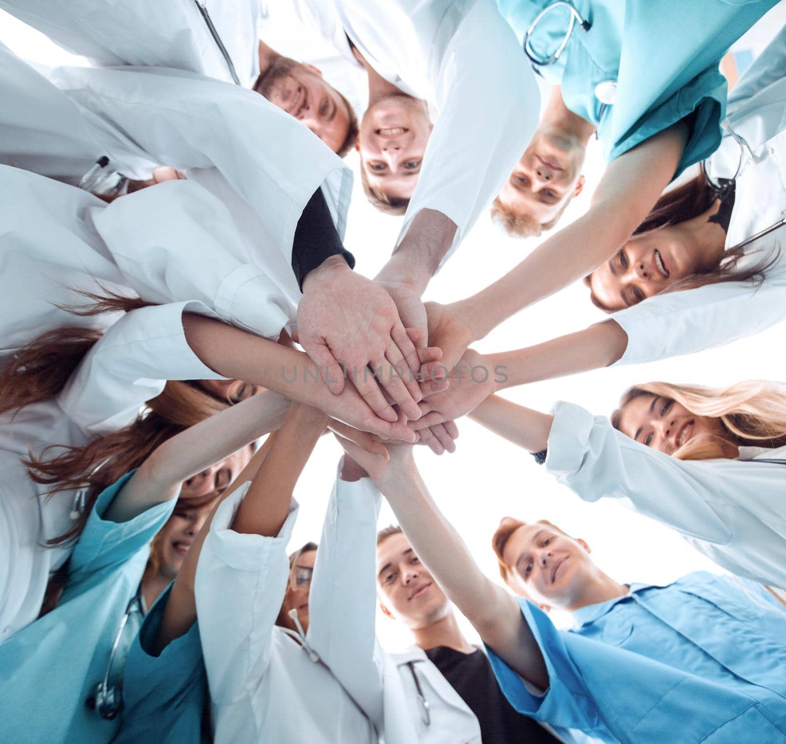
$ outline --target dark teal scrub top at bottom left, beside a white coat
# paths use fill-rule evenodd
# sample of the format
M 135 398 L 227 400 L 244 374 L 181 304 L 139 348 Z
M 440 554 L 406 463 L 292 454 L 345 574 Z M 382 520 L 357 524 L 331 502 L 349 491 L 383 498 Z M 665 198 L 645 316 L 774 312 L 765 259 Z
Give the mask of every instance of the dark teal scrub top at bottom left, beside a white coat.
M 199 624 L 174 639 L 160 655 L 152 648 L 170 587 L 145 617 L 131 645 L 123 678 L 123 713 L 112 744 L 210 744 L 208 673 Z M 203 726 L 203 723 L 205 724 Z

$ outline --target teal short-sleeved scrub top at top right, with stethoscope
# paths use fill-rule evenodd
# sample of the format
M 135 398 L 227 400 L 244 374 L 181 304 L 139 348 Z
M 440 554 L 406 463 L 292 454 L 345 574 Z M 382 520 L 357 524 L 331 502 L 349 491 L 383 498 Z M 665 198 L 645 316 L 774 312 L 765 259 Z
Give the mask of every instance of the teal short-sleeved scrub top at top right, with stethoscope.
M 520 42 L 553 0 L 497 0 Z M 560 58 L 536 66 L 562 87 L 567 109 L 597 127 L 609 162 L 672 124 L 693 115 L 677 175 L 709 157 L 721 142 L 726 82 L 718 64 L 777 0 L 572 0 L 591 24 L 575 24 Z M 567 10 L 542 18 L 531 46 L 548 57 L 567 31 Z M 596 87 L 615 83 L 613 103 Z M 608 101 L 608 95 L 601 94 Z

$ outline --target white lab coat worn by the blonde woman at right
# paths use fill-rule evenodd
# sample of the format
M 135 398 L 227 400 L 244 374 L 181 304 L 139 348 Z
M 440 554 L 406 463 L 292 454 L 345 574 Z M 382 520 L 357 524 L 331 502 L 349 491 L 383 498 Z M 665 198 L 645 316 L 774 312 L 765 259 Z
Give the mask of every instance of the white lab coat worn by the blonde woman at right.
M 573 403 L 556 403 L 545 466 L 585 501 L 621 499 L 738 576 L 786 587 L 786 447 L 679 460 Z

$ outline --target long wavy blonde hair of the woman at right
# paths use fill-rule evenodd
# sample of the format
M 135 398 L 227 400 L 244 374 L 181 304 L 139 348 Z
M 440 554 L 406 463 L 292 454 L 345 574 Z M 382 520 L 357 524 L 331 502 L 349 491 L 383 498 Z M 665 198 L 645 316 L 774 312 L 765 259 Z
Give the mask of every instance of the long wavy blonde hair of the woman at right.
M 674 400 L 696 416 L 717 418 L 728 436 L 725 441 L 754 447 L 781 447 L 786 444 L 786 385 L 770 380 L 745 380 L 728 388 L 703 385 L 672 385 L 646 382 L 627 389 L 612 414 L 619 429 L 623 409 L 639 396 L 662 396 Z M 682 460 L 725 457 L 723 441 L 687 442 L 672 455 Z

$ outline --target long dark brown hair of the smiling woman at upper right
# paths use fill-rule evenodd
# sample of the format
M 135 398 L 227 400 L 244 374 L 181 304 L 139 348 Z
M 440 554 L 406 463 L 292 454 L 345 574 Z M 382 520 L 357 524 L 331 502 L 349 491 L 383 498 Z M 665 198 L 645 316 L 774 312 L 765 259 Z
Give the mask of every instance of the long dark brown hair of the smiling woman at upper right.
M 662 227 L 678 225 L 703 215 L 717 198 L 718 194 L 709 186 L 703 174 L 699 173 L 695 178 L 664 193 L 656 201 L 644 222 L 634 230 L 632 237 L 651 233 Z M 780 258 L 780 248 L 776 247 L 767 252 L 754 266 L 740 269 L 738 264 L 740 259 L 746 256 L 746 248 L 747 246 L 740 246 L 725 250 L 715 266 L 699 269 L 689 276 L 678 279 L 661 290 L 659 294 L 681 292 L 684 289 L 696 289 L 707 284 L 721 284 L 723 282 L 751 282 L 754 289 L 758 289 L 764 282 L 767 271 Z M 612 308 L 601 303 L 594 293 L 590 293 L 590 298 L 593 304 L 604 312 L 615 312 Z

